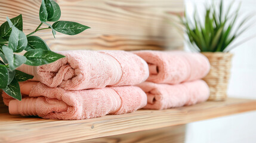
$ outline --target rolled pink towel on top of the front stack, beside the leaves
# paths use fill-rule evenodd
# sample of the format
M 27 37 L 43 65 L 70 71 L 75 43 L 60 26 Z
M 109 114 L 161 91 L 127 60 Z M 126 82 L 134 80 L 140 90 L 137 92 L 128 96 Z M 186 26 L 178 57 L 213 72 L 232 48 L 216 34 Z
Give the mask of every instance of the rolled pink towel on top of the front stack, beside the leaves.
M 64 51 L 66 57 L 43 66 L 23 64 L 17 70 L 52 88 L 68 90 L 137 85 L 149 76 L 147 63 L 125 51 Z

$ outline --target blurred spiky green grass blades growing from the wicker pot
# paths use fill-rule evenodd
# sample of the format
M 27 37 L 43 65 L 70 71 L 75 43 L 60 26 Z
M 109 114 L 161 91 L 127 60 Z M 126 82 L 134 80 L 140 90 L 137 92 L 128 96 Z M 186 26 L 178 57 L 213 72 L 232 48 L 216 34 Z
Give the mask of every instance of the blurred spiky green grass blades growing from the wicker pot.
M 226 13 L 223 10 L 223 1 L 217 8 L 212 3 L 205 10 L 203 22 L 199 20 L 197 11 L 193 14 L 192 20 L 185 11 L 181 21 L 186 29 L 187 43 L 201 52 L 228 52 L 235 48 L 235 46 L 230 48 L 229 45 L 251 26 L 251 24 L 245 25 L 252 16 L 247 15 L 238 23 L 240 7 L 237 7 L 235 12 L 230 11 L 233 3 L 229 5 Z

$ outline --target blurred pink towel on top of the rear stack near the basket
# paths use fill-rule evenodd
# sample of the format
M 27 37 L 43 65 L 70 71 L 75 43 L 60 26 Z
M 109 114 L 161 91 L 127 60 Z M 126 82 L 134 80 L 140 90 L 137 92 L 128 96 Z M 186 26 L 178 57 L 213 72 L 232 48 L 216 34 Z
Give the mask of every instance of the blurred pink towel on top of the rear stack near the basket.
M 177 84 L 202 79 L 210 64 L 200 53 L 183 51 L 134 51 L 149 65 L 148 82 Z

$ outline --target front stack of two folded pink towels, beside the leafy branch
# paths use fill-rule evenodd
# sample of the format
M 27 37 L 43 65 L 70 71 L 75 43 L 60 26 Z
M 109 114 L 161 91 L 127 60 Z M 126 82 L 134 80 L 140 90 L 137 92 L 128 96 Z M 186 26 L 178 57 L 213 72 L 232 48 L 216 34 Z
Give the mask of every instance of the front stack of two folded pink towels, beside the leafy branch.
M 147 95 L 137 85 L 149 77 L 147 63 L 125 51 L 66 51 L 54 63 L 18 68 L 32 74 L 20 83 L 22 101 L 3 93 L 10 114 L 46 119 L 90 119 L 143 108 Z

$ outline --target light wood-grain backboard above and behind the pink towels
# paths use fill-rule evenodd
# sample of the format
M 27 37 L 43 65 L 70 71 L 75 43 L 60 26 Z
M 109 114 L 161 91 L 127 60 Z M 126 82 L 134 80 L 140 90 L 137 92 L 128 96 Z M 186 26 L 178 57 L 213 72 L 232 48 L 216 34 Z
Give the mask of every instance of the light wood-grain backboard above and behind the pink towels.
M 183 48 L 182 34 L 175 28 L 183 1 L 177 0 L 58 0 L 61 20 L 90 26 L 79 35 L 39 32 L 51 49 L 177 49 Z M 0 23 L 6 16 L 23 15 L 24 33 L 36 29 L 41 0 L 1 0 Z M 168 21 L 170 21 L 169 24 Z

